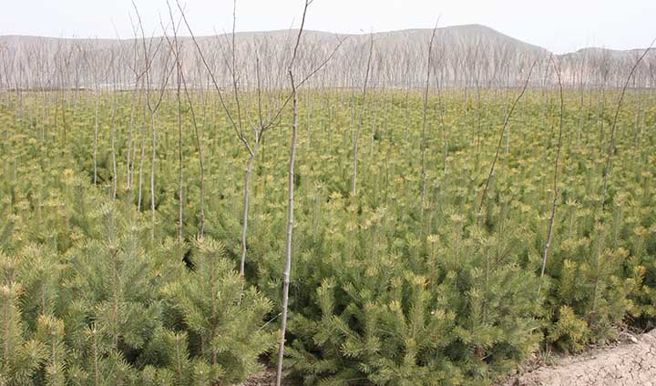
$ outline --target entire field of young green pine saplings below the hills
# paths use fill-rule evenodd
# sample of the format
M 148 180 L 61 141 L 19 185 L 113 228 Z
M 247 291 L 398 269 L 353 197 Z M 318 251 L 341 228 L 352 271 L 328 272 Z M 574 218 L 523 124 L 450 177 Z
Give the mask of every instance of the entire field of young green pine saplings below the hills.
M 285 384 L 491 384 L 653 327 L 650 88 L 162 90 L 0 93 L 0 385 L 247 380 L 288 240 Z

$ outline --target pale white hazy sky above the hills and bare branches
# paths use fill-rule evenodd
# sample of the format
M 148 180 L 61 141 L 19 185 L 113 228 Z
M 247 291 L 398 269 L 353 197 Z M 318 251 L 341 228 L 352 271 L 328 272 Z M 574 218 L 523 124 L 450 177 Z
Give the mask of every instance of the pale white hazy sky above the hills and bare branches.
M 175 1 L 175 0 L 172 0 Z M 0 0 L 0 35 L 129 37 L 130 0 Z M 303 0 L 238 0 L 237 29 L 287 29 Z M 166 0 L 135 0 L 147 31 Z M 231 29 L 232 0 L 180 0 L 194 34 Z M 174 3 L 173 3 L 174 5 Z M 584 46 L 645 47 L 656 37 L 656 0 L 314 0 L 308 29 L 360 33 L 482 24 L 557 53 Z

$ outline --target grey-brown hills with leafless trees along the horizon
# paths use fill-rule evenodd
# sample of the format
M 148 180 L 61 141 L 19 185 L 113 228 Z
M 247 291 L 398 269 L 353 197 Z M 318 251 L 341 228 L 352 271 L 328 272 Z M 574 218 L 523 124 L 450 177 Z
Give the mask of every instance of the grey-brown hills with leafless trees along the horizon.
M 186 31 L 182 31 L 186 32 Z M 241 32 L 234 36 L 235 67 L 241 85 L 256 82 L 258 66 L 266 68 L 261 84 L 284 86 L 286 63 L 297 31 Z M 431 29 L 407 29 L 373 35 L 343 35 L 304 31 L 301 56 L 297 62 L 309 73 L 343 42 L 333 60 L 313 79 L 314 86 L 359 86 L 364 78 L 370 41 L 374 42 L 372 86 L 416 87 L 425 82 L 426 47 Z M 180 37 L 187 78 L 196 86 L 206 85 L 208 76 L 199 51 L 191 38 Z M 0 87 L 108 86 L 135 83 L 135 70 L 144 66 L 144 46 L 153 56 L 154 84 L 164 82 L 170 65 L 165 36 L 142 39 L 69 39 L 42 36 L 0 36 Z M 212 72 L 224 85 L 230 83 L 231 34 L 197 36 L 197 42 Z M 146 43 L 146 44 L 144 44 Z M 456 25 L 436 30 L 434 47 L 437 86 L 515 86 L 526 76 L 531 64 L 548 66 L 551 53 L 504 35 L 485 25 Z M 588 84 L 613 86 L 641 50 L 616 51 L 581 49 L 559 56 L 565 82 L 578 83 L 585 73 Z M 651 62 L 656 55 L 651 55 Z M 649 63 L 647 61 L 646 63 Z M 600 67 L 607 69 L 601 71 Z M 646 67 L 648 67 L 646 65 Z M 610 68 L 616 69 L 611 72 Z M 648 69 L 644 70 L 648 74 Z M 539 73 L 537 73 L 539 74 Z M 645 75 L 646 76 L 646 75 Z M 532 76 L 533 86 L 553 79 Z

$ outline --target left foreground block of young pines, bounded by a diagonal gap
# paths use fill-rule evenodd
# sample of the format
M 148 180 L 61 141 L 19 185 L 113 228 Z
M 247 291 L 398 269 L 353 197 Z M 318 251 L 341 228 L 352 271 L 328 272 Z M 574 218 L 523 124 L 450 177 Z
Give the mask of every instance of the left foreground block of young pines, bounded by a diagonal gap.
M 232 384 L 261 368 L 272 303 L 220 242 L 194 241 L 188 269 L 67 153 L 16 131 L 2 150 L 0 384 Z

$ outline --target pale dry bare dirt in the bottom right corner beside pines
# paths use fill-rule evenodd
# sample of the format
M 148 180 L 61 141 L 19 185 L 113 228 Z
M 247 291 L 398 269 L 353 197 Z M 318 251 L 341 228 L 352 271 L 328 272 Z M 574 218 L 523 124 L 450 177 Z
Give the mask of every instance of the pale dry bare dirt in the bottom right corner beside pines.
M 506 386 L 656 386 L 656 330 L 526 372 Z

